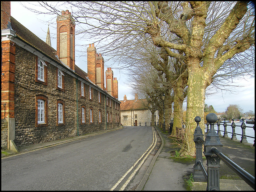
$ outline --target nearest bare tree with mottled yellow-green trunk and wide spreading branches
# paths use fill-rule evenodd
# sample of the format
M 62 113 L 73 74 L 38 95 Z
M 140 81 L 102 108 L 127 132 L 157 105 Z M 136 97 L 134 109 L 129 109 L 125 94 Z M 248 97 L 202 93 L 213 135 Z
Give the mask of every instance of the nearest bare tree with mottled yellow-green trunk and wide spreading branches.
M 227 78 L 234 74 L 254 69 L 254 63 L 243 61 L 243 58 L 254 60 L 254 7 L 248 2 L 63 4 L 70 6 L 74 20 L 80 24 L 78 32 L 89 35 L 95 43 L 100 42 L 105 55 L 125 54 L 122 50 L 127 46 L 136 51 L 138 44 L 151 39 L 168 57 L 186 65 L 188 139 L 183 143 L 183 154 L 195 153 L 194 117 L 204 116 L 206 88 L 220 77 L 226 77 L 224 82 L 228 82 Z M 42 5 L 49 13 L 61 12 L 45 2 Z M 203 122 L 200 126 L 204 127 Z

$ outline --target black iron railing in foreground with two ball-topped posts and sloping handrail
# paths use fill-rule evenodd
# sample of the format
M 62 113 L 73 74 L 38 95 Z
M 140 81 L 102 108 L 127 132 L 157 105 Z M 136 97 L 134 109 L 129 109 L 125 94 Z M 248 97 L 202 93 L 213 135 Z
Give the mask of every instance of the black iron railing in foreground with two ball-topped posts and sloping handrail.
M 194 132 L 194 142 L 196 146 L 196 161 L 194 165 L 194 181 L 207 181 L 206 190 L 220 190 L 220 160 L 228 167 L 236 172 L 247 184 L 255 189 L 255 178 L 241 167 L 236 165 L 228 157 L 222 154 L 222 143 L 220 143 L 219 135 L 214 130 L 214 123 L 217 121 L 217 116 L 210 113 L 206 116 L 206 121 L 210 125 L 210 129 L 204 141 L 204 134 L 199 126 L 201 118 L 195 117 L 197 127 Z M 204 155 L 207 160 L 207 172 L 202 164 L 202 145 L 204 145 Z

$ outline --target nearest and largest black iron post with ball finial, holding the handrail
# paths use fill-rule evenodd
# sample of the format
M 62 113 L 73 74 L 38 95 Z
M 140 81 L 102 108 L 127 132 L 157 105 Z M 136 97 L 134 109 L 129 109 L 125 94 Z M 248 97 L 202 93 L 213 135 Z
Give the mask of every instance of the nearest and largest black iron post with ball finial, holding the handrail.
M 217 121 L 217 116 L 214 113 L 209 113 L 206 116 L 206 121 L 210 123 L 210 131 L 206 135 L 204 145 L 204 155 L 207 160 L 207 188 L 206 190 L 220 190 L 220 158 L 212 152 L 215 147 L 222 152 L 222 144 L 220 143 L 219 135 L 214 130 L 214 123 Z

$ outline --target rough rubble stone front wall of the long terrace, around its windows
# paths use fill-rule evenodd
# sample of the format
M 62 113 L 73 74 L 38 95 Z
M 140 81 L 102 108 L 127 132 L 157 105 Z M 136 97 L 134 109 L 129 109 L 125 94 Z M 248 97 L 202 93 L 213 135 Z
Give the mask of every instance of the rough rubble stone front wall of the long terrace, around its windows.
M 15 128 L 17 147 L 74 137 L 77 135 L 76 79 L 64 72 L 64 92 L 56 89 L 56 67 L 48 64 L 47 85 L 35 82 L 36 56 L 16 46 L 15 68 Z M 89 86 L 85 86 L 86 98 L 80 97 L 78 83 L 78 132 L 79 135 L 118 127 L 118 123 L 105 124 L 105 100 L 98 103 L 98 91 L 93 90 L 93 100 L 88 97 Z M 48 98 L 48 126 L 36 127 L 36 96 Z M 65 124 L 57 123 L 57 100 L 64 101 Z M 81 106 L 86 106 L 86 123 L 81 123 Z M 89 109 L 93 107 L 94 122 L 90 123 Z M 98 123 L 98 110 L 102 110 L 102 123 Z M 120 113 L 113 108 L 112 114 Z M 119 123 L 120 125 L 120 123 Z

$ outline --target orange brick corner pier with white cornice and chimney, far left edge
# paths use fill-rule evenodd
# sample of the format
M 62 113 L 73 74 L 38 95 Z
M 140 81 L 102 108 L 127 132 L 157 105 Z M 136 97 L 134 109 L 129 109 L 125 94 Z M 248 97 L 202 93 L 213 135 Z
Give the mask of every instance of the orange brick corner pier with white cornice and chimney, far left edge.
M 2 70 L 1 70 L 1 119 L 6 118 L 8 129 L 15 130 L 14 120 L 14 82 L 15 82 L 15 55 L 16 43 L 14 39 L 15 31 L 11 29 L 10 23 L 11 2 L 1 1 L 1 47 L 2 47 Z M 3 35 L 5 34 L 5 35 Z M 10 123 L 10 122 L 13 122 Z M 14 131 L 15 132 L 15 131 Z M 9 140 L 14 140 L 14 135 L 8 135 L 8 149 L 10 149 Z

